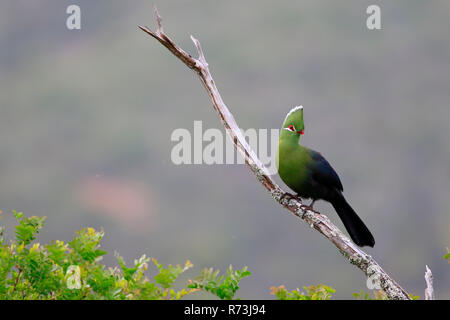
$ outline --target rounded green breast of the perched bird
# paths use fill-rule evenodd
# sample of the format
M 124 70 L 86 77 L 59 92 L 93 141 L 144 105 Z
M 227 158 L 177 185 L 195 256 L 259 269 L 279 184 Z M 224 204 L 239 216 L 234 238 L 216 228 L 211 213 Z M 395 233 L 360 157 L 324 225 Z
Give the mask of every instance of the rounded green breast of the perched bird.
M 301 194 L 309 178 L 308 163 L 312 161 L 306 148 L 295 141 L 280 139 L 277 152 L 278 174 L 283 182 Z

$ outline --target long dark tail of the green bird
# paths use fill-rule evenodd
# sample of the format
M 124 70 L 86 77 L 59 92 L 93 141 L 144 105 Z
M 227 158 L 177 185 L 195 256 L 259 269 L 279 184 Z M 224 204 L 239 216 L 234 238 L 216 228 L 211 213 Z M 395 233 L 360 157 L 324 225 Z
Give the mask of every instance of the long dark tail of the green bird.
M 364 222 L 358 217 L 352 207 L 350 207 L 341 193 L 331 201 L 331 204 L 344 223 L 344 226 L 354 243 L 360 247 L 373 247 L 375 245 L 375 239 L 373 238 L 372 233 L 370 233 Z

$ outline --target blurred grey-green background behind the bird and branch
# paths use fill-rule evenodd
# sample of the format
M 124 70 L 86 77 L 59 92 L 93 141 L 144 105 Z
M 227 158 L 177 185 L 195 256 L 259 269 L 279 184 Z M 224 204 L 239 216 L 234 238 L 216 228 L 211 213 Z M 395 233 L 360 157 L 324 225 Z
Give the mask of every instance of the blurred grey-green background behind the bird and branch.
M 278 128 L 305 107 L 303 143 L 336 168 L 376 246 L 367 252 L 423 297 L 425 264 L 450 298 L 450 2 L 155 1 L 165 31 L 203 46 L 242 128 Z M 81 7 L 81 30 L 66 8 Z M 0 209 L 46 215 L 40 241 L 103 227 L 117 250 L 197 271 L 247 265 L 238 296 L 366 279 L 282 209 L 243 165 L 170 160 L 176 128 L 220 128 L 195 74 L 138 30 L 152 1 L 0 2 Z M 366 28 L 381 7 L 382 30 Z M 279 181 L 279 179 L 277 180 Z M 317 208 L 342 226 L 331 206 Z

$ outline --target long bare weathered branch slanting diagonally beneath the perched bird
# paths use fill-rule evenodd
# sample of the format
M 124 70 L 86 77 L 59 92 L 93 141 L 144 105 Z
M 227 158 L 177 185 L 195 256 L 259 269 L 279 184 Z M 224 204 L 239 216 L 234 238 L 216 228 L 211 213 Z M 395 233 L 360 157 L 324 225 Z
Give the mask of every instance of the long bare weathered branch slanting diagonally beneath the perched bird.
M 330 240 L 341 254 L 346 257 L 351 264 L 357 266 L 370 279 L 376 279 L 381 289 L 386 293 L 390 299 L 410 300 L 408 293 L 403 290 L 381 267 L 380 265 L 367 253 L 359 249 L 347 238 L 341 230 L 339 230 L 331 221 L 323 214 L 311 210 L 309 207 L 303 205 L 301 201 L 289 197 L 283 197 L 286 194 L 270 177 L 264 165 L 258 159 L 256 154 L 247 144 L 244 136 L 241 133 L 233 115 L 228 110 L 227 106 L 222 100 L 215 82 L 211 76 L 203 54 L 200 42 L 191 36 L 194 42 L 198 58 L 193 58 L 183 49 L 178 47 L 163 31 L 161 17 L 158 14 L 156 7 L 154 7 L 156 22 L 158 28 L 156 31 L 150 30 L 148 27 L 139 26 L 139 28 L 158 40 L 164 47 L 172 52 L 185 65 L 194 70 L 200 77 L 200 81 L 208 92 L 214 109 L 219 113 L 222 124 L 224 125 L 227 134 L 234 142 L 237 150 L 242 154 L 245 163 L 259 180 L 259 182 L 266 188 L 271 196 L 280 203 L 283 207 L 288 209 L 295 216 L 305 221 L 312 228 L 319 231 L 323 236 Z

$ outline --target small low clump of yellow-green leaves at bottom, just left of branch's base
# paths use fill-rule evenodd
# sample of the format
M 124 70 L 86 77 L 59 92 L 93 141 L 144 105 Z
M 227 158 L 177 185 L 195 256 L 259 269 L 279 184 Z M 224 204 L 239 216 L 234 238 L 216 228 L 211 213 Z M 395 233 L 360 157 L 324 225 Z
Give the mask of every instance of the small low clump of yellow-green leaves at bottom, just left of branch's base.
M 336 292 L 333 288 L 323 284 L 303 287 L 305 292 L 301 292 L 298 288 L 288 291 L 283 285 L 279 287 L 271 287 L 270 289 L 270 293 L 278 300 L 330 300 L 332 293 Z

